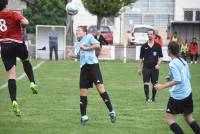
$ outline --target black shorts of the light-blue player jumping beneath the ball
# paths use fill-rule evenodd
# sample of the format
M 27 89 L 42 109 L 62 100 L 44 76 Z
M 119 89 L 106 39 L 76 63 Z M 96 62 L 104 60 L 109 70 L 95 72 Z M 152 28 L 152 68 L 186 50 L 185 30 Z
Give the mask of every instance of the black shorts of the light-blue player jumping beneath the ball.
M 103 84 L 99 64 L 85 64 L 80 72 L 80 88 L 92 88 L 93 83 Z

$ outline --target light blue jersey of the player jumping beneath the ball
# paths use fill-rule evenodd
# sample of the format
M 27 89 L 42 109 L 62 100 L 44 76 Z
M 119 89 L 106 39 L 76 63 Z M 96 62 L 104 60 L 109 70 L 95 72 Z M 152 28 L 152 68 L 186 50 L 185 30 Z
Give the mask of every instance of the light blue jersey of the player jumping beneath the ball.
M 93 44 L 99 43 L 93 35 L 87 34 L 85 35 L 79 42 L 76 42 L 75 47 L 75 55 L 79 56 L 80 54 L 80 67 L 85 64 L 95 64 L 98 63 L 98 59 L 95 54 L 95 50 L 81 50 L 80 45 L 91 46 Z

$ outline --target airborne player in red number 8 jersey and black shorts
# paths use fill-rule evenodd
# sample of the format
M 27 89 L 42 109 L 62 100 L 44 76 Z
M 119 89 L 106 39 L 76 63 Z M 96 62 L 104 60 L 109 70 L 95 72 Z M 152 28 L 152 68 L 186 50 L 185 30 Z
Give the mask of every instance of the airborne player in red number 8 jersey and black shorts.
M 21 14 L 6 9 L 8 0 L 0 1 L 0 46 L 1 57 L 8 72 L 8 89 L 16 116 L 21 112 L 16 99 L 16 57 L 22 61 L 24 71 L 30 80 L 30 89 L 37 94 L 32 66 L 28 60 L 28 51 L 23 43 L 22 28 L 28 25 L 28 20 Z

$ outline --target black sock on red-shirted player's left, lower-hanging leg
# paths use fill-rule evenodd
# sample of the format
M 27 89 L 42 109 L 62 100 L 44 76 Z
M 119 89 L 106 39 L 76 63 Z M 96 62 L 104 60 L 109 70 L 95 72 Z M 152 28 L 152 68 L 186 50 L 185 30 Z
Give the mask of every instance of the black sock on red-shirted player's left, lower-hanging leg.
M 8 80 L 8 90 L 9 90 L 11 101 L 16 101 L 16 80 L 15 79 Z

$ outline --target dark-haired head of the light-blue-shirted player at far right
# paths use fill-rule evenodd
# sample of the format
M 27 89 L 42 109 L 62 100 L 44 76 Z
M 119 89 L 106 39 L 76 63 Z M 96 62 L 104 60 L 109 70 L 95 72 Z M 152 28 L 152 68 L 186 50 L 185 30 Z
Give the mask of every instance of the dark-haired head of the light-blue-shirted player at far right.
M 178 57 L 179 56 L 179 45 L 177 42 L 170 42 L 168 45 L 168 55 Z

